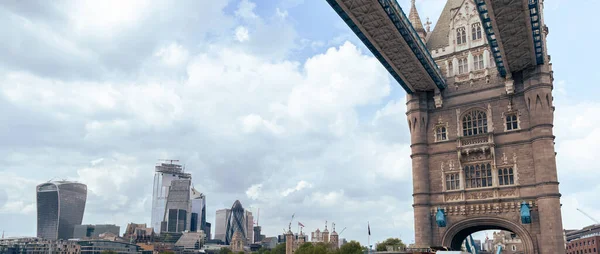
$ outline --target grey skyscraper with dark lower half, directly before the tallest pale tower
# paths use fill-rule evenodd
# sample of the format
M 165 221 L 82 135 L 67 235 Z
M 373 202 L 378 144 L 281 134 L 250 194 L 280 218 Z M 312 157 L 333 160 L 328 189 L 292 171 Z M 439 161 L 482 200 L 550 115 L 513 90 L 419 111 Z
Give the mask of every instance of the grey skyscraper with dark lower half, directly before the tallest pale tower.
M 190 185 L 190 179 L 171 181 L 161 232 L 183 232 L 190 228 Z

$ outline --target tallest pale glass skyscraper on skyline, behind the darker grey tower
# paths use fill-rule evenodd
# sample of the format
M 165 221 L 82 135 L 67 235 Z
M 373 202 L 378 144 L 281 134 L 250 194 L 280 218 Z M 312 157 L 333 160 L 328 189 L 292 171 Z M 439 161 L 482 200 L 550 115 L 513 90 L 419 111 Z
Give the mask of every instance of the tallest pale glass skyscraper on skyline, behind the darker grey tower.
M 183 172 L 181 165 L 161 163 L 155 167 L 154 187 L 152 190 L 152 218 L 154 232 L 161 232 L 161 222 L 165 220 L 167 196 L 173 180 L 191 180 L 192 176 Z

